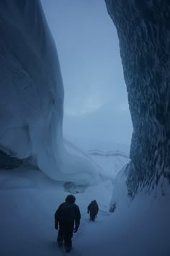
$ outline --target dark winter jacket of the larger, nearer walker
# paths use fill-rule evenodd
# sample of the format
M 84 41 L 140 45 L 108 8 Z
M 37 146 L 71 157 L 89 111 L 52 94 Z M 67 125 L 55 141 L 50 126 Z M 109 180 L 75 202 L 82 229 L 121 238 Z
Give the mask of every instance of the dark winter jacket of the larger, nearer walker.
M 55 223 L 75 224 L 79 228 L 81 213 L 76 203 L 61 203 L 55 212 Z

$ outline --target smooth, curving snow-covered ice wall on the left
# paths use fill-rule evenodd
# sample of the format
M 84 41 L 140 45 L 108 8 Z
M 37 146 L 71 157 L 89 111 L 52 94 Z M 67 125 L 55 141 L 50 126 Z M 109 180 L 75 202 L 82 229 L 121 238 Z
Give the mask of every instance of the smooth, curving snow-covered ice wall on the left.
M 63 81 L 40 1 L 0 1 L 0 38 L 0 150 L 33 157 L 52 178 L 90 182 L 95 168 L 63 146 Z

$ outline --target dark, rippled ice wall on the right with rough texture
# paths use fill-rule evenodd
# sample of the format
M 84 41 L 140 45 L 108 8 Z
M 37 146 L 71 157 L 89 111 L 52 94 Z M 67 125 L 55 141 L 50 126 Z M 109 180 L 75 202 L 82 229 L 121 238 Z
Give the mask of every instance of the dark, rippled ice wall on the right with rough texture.
M 117 27 L 133 121 L 128 190 L 170 180 L 170 2 L 105 0 Z

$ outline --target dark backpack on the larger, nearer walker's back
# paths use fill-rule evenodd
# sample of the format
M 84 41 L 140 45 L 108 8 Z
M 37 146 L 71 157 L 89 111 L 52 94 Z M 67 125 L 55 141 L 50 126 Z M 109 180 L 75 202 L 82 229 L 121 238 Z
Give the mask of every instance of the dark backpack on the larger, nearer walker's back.
M 62 203 L 58 211 L 58 219 L 60 221 L 70 222 L 75 220 L 74 203 Z

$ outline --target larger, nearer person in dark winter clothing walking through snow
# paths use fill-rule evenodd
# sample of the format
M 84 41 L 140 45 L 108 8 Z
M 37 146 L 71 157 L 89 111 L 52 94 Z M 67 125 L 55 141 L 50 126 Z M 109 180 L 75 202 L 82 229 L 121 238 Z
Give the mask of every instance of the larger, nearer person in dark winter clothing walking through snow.
M 58 246 L 62 247 L 64 242 L 66 252 L 71 251 L 71 238 L 73 237 L 73 232 L 76 233 L 78 231 L 81 219 L 79 206 L 76 205 L 75 201 L 74 195 L 68 195 L 66 202 L 61 203 L 55 212 L 55 229 L 58 230 L 59 224 Z

